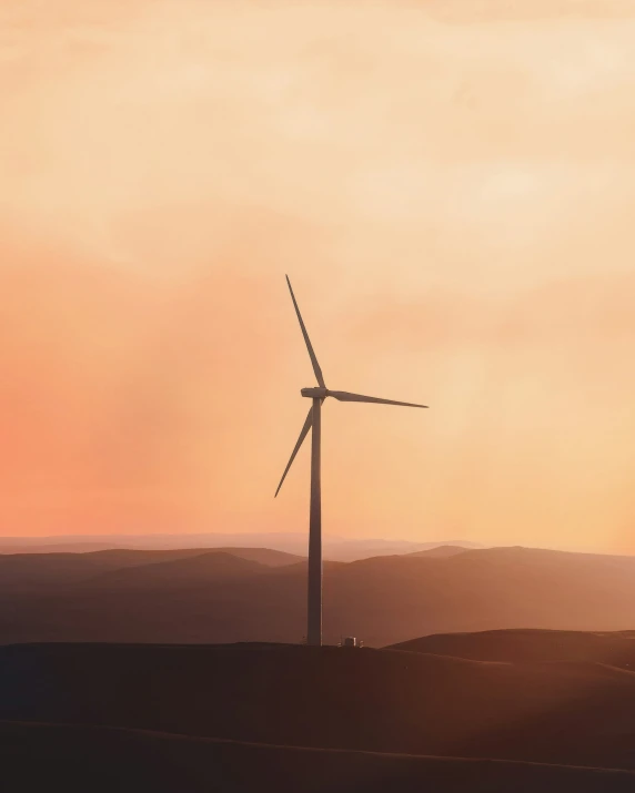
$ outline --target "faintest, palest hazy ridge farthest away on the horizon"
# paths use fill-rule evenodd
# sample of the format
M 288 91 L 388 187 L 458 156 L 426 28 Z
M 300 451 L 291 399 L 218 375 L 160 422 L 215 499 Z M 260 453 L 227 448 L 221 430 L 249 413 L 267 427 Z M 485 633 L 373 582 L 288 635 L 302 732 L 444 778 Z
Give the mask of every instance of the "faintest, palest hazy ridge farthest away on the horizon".
M 188 548 L 271 548 L 285 553 L 306 557 L 306 533 L 193 533 L 193 535 L 103 535 L 60 537 L 0 537 L 2 553 L 84 553 L 115 548 L 143 550 L 179 550 Z M 333 561 L 355 561 L 389 553 L 412 553 L 434 548 L 442 542 L 412 542 L 407 540 L 345 539 L 324 537 L 323 551 Z M 443 545 L 480 548 L 475 542 L 451 540 Z

